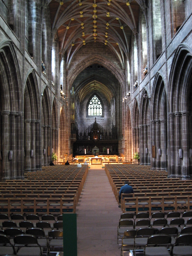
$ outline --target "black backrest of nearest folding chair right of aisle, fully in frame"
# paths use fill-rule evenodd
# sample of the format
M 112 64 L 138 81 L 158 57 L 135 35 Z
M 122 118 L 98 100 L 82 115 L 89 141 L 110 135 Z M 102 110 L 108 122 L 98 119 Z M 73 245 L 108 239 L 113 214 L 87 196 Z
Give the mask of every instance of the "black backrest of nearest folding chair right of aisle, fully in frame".
M 155 234 L 149 236 L 147 239 L 147 245 L 171 245 L 171 236 L 167 234 Z

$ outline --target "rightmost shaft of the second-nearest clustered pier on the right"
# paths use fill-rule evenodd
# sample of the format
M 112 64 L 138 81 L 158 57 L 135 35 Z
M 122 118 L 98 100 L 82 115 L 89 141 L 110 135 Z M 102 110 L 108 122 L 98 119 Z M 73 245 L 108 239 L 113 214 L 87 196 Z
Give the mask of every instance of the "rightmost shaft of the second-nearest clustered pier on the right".
M 160 120 L 160 148 L 161 148 L 161 169 L 166 170 L 166 120 Z

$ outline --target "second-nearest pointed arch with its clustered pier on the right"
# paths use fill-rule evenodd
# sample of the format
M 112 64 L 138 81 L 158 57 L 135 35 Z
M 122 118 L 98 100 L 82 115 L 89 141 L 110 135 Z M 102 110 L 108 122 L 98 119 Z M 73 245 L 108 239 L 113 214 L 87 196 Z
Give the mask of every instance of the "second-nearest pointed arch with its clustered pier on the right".
M 151 106 L 151 167 L 167 170 L 167 93 L 159 72 L 155 76 Z

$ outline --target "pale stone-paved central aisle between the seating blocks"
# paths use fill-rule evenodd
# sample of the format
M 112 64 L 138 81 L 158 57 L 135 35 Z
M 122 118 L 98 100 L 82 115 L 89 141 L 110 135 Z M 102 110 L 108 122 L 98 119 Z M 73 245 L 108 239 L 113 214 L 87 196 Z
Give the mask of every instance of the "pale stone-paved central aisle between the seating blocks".
M 117 226 L 122 211 L 101 167 L 89 169 L 76 213 L 78 256 L 120 256 Z

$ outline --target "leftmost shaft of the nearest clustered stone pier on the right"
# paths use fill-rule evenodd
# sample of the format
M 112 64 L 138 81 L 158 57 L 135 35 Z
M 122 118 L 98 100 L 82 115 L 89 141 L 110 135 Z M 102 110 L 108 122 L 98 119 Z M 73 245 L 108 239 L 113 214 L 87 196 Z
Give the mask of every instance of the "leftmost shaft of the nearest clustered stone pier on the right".
M 168 161 L 168 175 L 170 177 L 175 177 L 175 129 L 174 129 L 174 113 L 168 113 L 169 117 L 169 161 Z

